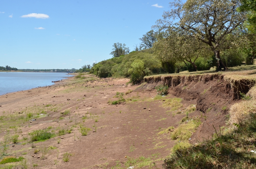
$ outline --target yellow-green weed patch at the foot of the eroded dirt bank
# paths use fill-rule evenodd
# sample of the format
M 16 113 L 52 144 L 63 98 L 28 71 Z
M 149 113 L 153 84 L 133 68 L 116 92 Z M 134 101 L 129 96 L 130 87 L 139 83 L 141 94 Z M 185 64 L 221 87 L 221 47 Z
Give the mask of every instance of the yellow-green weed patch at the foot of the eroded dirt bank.
M 192 133 L 196 131 L 200 124 L 201 121 L 197 118 L 194 118 L 187 123 L 180 124 L 180 126 L 174 129 L 171 133 L 172 140 L 188 141 Z

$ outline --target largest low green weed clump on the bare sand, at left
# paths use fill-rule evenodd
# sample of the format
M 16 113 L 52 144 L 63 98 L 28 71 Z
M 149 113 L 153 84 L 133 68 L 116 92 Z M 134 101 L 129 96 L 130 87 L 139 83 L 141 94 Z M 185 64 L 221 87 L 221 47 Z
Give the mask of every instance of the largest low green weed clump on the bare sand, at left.
M 34 142 L 34 141 L 43 141 L 49 138 L 52 138 L 54 136 L 53 133 L 51 133 L 48 129 L 44 129 L 44 130 L 34 130 L 30 133 L 28 133 L 30 135 L 30 141 Z

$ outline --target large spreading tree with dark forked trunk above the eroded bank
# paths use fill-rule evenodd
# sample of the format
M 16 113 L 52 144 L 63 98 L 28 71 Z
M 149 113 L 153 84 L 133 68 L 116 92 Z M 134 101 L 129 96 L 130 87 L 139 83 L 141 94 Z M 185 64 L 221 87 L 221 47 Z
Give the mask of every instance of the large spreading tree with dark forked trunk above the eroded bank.
M 228 48 L 224 46 L 226 36 L 233 34 L 246 19 L 246 14 L 237 10 L 239 6 L 238 0 L 188 0 L 185 3 L 175 0 L 155 27 L 159 30 L 175 27 L 193 35 L 210 46 L 217 60 L 217 71 L 227 70 L 220 51 Z M 173 23 L 171 19 L 179 21 Z

